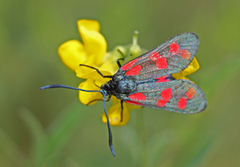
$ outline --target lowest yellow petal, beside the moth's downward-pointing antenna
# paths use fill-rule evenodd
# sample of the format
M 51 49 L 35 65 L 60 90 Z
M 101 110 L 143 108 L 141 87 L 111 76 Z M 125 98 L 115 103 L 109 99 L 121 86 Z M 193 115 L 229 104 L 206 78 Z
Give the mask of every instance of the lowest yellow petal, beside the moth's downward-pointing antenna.
M 109 108 L 108 118 L 111 125 L 123 126 L 129 121 L 130 114 L 126 108 L 123 108 L 123 118 L 121 120 L 121 104 L 119 103 Z M 102 121 L 107 122 L 105 114 L 102 114 Z

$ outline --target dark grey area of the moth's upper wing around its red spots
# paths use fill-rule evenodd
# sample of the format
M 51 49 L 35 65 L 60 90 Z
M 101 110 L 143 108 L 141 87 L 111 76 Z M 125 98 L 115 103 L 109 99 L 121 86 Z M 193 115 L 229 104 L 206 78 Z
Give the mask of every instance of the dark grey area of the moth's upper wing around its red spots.
M 179 53 L 174 55 L 169 52 L 170 45 L 172 43 L 177 43 L 179 45 Z M 141 66 L 141 71 L 137 75 L 130 75 L 127 76 L 134 80 L 148 80 L 152 78 L 157 78 L 160 76 L 178 73 L 183 69 L 187 68 L 189 63 L 192 61 L 194 55 L 197 53 L 199 45 L 198 36 L 195 33 L 183 33 L 179 34 L 167 41 L 163 44 L 159 45 L 155 49 L 129 61 L 121 69 L 128 66 L 129 68 L 124 69 L 123 73 L 127 73 L 132 68 L 136 67 L 137 65 Z M 191 56 L 188 59 L 182 58 L 181 50 L 187 50 Z M 152 53 L 158 53 L 162 57 L 166 58 L 167 60 L 167 69 L 159 69 L 156 66 L 156 61 L 150 59 L 150 55 Z M 119 70 L 116 75 L 122 75 L 122 71 Z

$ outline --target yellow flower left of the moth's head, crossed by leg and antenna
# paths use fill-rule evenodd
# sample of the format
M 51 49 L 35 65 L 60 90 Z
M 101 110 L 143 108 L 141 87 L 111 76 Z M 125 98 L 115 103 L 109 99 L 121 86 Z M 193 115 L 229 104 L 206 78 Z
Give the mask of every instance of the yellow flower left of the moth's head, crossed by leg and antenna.
M 102 67 L 106 56 L 107 42 L 99 33 L 100 25 L 97 21 L 79 20 L 77 24 L 83 44 L 78 40 L 67 41 L 59 47 L 58 53 L 63 63 L 76 72 L 77 77 L 86 79 L 79 85 L 79 88 L 99 90 L 96 85 L 101 86 L 100 83 L 107 82 L 109 79 L 103 79 L 96 70 L 79 65 L 90 65 L 98 68 L 104 75 L 113 75 L 115 71 L 110 65 Z M 83 104 L 88 104 L 95 99 L 102 99 L 102 94 L 79 91 L 79 99 Z M 94 103 L 96 101 L 91 104 Z

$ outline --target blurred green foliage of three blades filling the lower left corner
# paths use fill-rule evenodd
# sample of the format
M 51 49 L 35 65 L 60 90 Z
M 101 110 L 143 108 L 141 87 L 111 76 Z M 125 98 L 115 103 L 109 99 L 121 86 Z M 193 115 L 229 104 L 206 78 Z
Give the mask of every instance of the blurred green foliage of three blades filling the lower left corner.
M 80 107 L 81 106 L 81 107 Z M 3 152 L 20 166 L 59 166 L 66 159 L 59 159 L 64 147 L 76 132 L 79 121 L 84 118 L 86 106 L 79 102 L 71 103 L 52 121 L 46 131 L 36 116 L 26 108 L 21 109 L 20 116 L 31 133 L 30 157 L 26 158 L 22 151 L 1 130 L 0 137 Z M 19 161 L 20 160 L 20 161 Z

